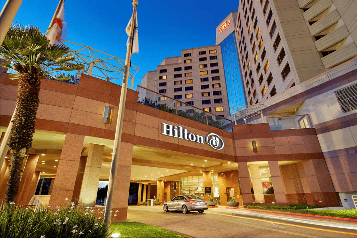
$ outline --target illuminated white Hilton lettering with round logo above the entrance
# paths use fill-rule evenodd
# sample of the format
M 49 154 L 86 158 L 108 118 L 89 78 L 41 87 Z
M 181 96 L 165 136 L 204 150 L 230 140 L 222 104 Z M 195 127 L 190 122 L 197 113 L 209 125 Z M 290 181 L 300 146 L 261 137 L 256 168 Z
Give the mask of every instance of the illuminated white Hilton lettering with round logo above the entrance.
M 187 129 L 183 129 L 182 126 L 173 126 L 166 123 L 162 124 L 162 135 L 171 136 L 174 138 L 182 139 L 182 140 L 190 140 L 192 142 L 205 144 L 211 146 L 215 150 L 222 150 L 224 143 L 222 138 L 215 133 L 208 133 L 205 136 L 205 140 L 203 140 L 202 135 L 195 135 L 193 133 L 188 133 Z

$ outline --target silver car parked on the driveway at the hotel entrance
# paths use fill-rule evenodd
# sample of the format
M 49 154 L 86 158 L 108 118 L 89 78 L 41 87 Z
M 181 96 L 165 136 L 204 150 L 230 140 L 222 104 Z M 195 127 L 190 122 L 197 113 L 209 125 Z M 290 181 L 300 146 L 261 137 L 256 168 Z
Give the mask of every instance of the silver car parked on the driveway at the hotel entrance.
M 187 214 L 190 211 L 204 212 L 208 209 L 206 200 L 196 195 L 180 195 L 164 203 L 164 211 L 182 211 Z

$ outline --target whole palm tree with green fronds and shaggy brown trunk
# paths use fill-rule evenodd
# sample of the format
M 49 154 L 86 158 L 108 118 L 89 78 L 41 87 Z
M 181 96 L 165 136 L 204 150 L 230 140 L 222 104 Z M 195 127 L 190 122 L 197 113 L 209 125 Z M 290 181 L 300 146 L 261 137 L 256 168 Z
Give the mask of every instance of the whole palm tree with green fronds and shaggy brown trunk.
M 59 44 L 49 46 L 49 42 L 38 27 L 16 24 L 10 27 L 1 45 L 1 57 L 7 60 L 1 66 L 18 73 L 10 74 L 10 79 L 19 79 L 17 106 L 8 144 L 11 167 L 4 205 L 16 202 L 22 161 L 32 146 L 32 136 L 35 133 L 36 113 L 40 103 L 40 79 L 46 74 L 84 67 L 82 64 L 72 63 L 74 58 L 68 55 L 68 47 Z

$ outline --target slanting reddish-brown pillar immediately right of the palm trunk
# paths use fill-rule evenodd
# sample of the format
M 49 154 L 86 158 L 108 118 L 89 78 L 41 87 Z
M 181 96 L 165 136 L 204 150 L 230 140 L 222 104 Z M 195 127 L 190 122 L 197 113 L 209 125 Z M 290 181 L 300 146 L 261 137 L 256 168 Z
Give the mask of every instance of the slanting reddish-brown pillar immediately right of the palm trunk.
M 26 165 L 24 171 L 22 172 L 21 181 L 19 185 L 19 193 L 17 193 L 16 205 L 27 205 L 25 204 L 25 202 L 29 193 L 32 177 L 34 176 L 39 157 L 39 155 L 32 154 L 29 154 L 29 156 L 27 156 Z

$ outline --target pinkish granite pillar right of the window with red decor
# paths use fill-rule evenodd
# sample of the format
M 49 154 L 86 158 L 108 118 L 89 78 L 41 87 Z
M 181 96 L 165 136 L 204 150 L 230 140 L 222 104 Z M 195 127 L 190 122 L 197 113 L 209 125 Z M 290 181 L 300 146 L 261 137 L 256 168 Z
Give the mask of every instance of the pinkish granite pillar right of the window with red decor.
M 268 161 L 276 203 L 287 203 L 278 161 Z

